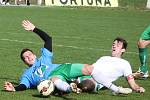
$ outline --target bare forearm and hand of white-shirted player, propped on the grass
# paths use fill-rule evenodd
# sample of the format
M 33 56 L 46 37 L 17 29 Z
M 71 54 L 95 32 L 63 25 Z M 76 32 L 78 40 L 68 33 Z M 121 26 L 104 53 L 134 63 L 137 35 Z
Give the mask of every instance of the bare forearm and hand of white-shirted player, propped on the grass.
M 140 86 L 135 82 L 134 77 L 133 77 L 132 74 L 130 74 L 130 75 L 127 76 L 127 81 L 128 81 L 128 83 L 129 83 L 130 87 L 131 87 L 134 91 L 139 92 L 139 93 L 145 92 L 145 89 L 144 89 L 143 87 L 140 87 Z

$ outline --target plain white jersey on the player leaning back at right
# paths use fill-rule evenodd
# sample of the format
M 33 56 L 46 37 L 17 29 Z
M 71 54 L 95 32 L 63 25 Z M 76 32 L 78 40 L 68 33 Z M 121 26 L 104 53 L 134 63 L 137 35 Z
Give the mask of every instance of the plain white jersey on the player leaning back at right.
M 103 56 L 93 66 L 92 77 L 106 87 L 111 85 L 111 82 L 117 80 L 120 76 L 127 77 L 132 74 L 129 62 L 117 57 Z

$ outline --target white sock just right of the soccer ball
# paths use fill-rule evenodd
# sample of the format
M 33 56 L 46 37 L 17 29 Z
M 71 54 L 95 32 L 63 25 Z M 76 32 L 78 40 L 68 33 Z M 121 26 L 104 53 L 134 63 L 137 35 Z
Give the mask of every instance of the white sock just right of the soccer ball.
M 54 85 L 60 91 L 63 91 L 63 92 L 70 92 L 71 91 L 70 85 L 67 82 L 62 81 L 61 79 L 56 80 L 54 82 Z

